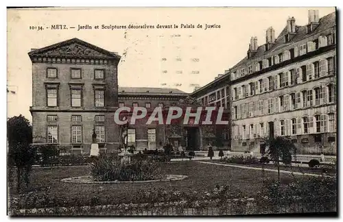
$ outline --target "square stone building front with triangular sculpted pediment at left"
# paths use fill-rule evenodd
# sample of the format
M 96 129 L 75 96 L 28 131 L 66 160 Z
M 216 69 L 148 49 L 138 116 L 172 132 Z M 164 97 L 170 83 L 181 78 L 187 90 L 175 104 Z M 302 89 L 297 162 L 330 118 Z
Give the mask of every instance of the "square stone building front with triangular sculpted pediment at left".
M 89 152 L 95 130 L 100 151 L 117 148 L 120 56 L 73 38 L 30 51 L 29 58 L 34 143 Z

